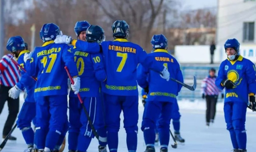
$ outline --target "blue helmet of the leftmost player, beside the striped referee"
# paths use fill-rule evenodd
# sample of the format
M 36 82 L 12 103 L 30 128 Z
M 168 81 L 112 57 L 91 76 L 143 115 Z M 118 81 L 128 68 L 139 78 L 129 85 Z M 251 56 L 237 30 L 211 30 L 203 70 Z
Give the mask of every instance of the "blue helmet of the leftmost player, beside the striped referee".
M 19 50 L 24 50 L 25 42 L 23 38 L 20 36 L 10 37 L 6 44 L 6 49 L 10 52 L 17 52 Z

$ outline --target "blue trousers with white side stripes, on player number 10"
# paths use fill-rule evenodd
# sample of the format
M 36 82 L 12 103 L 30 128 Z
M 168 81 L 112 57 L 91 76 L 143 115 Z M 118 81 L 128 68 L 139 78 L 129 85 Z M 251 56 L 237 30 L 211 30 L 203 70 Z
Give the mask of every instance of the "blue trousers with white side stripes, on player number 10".
M 103 105 L 100 97 L 82 97 L 83 105 L 88 112 L 90 120 L 97 130 L 101 146 L 107 144 L 107 135 L 104 125 Z M 71 106 L 71 107 L 70 107 Z M 69 99 L 69 150 L 86 151 L 91 139 L 94 138 L 92 127 L 82 109 L 82 105 L 77 97 Z M 80 120 L 80 121 L 77 121 Z

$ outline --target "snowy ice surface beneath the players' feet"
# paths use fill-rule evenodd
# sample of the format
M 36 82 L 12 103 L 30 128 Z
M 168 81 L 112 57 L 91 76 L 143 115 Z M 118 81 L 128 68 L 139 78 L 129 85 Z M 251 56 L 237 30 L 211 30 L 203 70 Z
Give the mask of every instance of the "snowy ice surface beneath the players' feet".
M 20 95 L 20 107 L 24 100 L 22 99 L 23 94 Z M 173 140 L 170 139 L 169 152 L 231 152 L 232 145 L 229 138 L 229 131 L 226 130 L 226 123 L 224 120 L 223 103 L 217 104 L 217 114 L 215 123 L 209 128 L 205 125 L 205 102 L 203 100 L 190 102 L 190 101 L 179 101 L 178 102 L 181 112 L 181 136 L 186 140 L 185 145 L 178 145 L 177 149 L 173 149 L 171 144 L 174 144 Z M 139 100 L 139 123 L 138 127 L 141 127 L 143 114 L 143 106 L 141 100 Z M 8 115 L 8 107 L 5 104 L 4 110 L 0 115 L 0 131 L 2 135 L 3 126 Z M 121 114 L 122 119 L 122 114 Z M 252 112 L 247 109 L 247 152 L 256 151 L 256 112 Z M 121 120 L 122 122 L 123 120 Z M 171 125 L 173 131 L 173 126 Z M 16 128 L 13 132 L 13 136 L 17 137 L 16 142 L 8 142 L 2 152 L 23 152 L 26 148 L 25 141 L 22 137 L 21 131 Z M 66 136 L 67 138 L 67 136 Z M 138 131 L 138 145 L 137 152 L 143 152 L 145 150 L 145 144 L 143 140 L 143 132 Z M 160 146 L 156 146 L 156 151 L 159 151 Z M 67 152 L 67 139 L 66 147 L 64 152 Z M 98 141 L 92 140 L 89 146 L 88 152 L 98 152 Z M 121 123 L 119 131 L 119 152 L 126 152 L 126 133 Z

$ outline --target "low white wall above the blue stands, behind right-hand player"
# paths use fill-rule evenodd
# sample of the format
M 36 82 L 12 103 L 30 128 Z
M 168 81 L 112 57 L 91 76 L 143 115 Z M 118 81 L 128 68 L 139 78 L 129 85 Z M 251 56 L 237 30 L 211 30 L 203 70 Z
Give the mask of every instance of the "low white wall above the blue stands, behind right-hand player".
M 240 46 L 240 54 L 256 63 L 256 45 Z M 175 58 L 179 63 L 210 63 L 209 45 L 176 45 Z M 214 63 L 221 63 L 227 59 L 223 45 L 216 46 Z

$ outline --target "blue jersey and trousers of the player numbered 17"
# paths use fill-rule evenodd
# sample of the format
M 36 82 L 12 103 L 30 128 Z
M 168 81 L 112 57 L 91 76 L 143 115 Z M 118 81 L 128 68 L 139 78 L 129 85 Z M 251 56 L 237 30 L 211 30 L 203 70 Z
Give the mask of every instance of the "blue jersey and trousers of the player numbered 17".
M 54 149 L 67 126 L 67 66 L 72 77 L 78 76 L 74 55 L 67 44 L 48 41 L 36 47 L 26 62 L 29 76 L 37 77 L 36 99 L 37 148 Z M 48 133 L 47 133 L 48 132 Z M 47 134 L 47 136 L 46 136 Z M 62 140 L 63 141 L 63 140 Z

